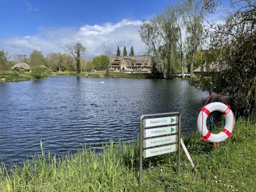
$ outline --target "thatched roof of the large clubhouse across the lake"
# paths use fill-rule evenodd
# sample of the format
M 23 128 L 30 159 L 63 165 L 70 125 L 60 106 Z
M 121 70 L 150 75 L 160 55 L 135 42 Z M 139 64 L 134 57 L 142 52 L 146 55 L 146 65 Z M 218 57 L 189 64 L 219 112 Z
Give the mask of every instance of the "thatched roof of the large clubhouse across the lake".
M 127 67 L 131 67 L 131 66 L 152 67 L 153 66 L 153 59 L 151 55 L 135 55 L 135 56 L 116 56 L 110 61 L 108 67 L 110 67 L 112 64 L 121 64 L 123 59 Z

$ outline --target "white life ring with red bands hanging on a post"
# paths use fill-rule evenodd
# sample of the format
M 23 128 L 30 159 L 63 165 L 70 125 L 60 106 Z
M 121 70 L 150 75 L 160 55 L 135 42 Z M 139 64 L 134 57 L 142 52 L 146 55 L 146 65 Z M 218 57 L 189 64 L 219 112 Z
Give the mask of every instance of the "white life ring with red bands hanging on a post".
M 213 111 L 220 111 L 225 116 L 224 129 L 218 134 L 210 133 L 206 126 L 206 119 L 208 115 Z M 234 114 L 231 111 L 230 106 L 227 106 L 224 103 L 220 102 L 213 102 L 204 106 L 197 118 L 197 128 L 202 135 L 202 139 L 212 143 L 222 142 L 225 139 L 231 137 L 234 129 L 234 124 Z

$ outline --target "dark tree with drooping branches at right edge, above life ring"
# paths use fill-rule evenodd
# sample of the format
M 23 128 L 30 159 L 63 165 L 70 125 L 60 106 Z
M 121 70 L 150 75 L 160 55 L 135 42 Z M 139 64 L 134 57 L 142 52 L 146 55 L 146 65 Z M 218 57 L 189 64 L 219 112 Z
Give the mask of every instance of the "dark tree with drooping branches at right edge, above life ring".
M 206 1 L 210 13 L 220 13 L 221 23 L 208 21 L 208 36 L 217 50 L 216 83 L 222 94 L 233 97 L 237 108 L 251 112 L 256 107 L 256 1 Z

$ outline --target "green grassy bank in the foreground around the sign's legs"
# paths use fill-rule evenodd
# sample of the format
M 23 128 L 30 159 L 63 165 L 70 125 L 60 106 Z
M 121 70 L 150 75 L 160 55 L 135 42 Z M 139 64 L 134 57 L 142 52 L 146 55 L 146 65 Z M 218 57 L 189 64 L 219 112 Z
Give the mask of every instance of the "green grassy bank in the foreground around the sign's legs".
M 223 126 L 221 122 L 215 129 Z M 138 182 L 138 141 L 119 140 L 104 145 L 102 152 L 84 146 L 60 159 L 41 143 L 41 154 L 22 165 L 0 169 L 0 191 L 255 191 L 256 113 L 237 119 L 231 138 L 209 152 L 197 132 L 183 141 L 194 161 L 193 169 L 183 150 L 181 174 L 177 174 L 177 155 L 144 159 L 143 183 Z

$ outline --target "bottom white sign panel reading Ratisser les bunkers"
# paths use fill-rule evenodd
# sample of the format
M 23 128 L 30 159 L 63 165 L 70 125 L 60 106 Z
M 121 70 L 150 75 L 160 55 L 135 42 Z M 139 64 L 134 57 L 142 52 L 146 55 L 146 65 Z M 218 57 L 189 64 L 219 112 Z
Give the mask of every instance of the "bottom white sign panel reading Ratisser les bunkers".
M 166 145 L 163 147 L 156 147 L 156 148 L 152 148 L 152 149 L 144 149 L 143 157 L 147 158 L 147 157 L 153 157 L 153 156 L 161 155 L 161 154 L 165 154 L 165 153 L 171 153 L 171 152 L 177 151 L 177 149 L 178 149 L 177 144 Z

